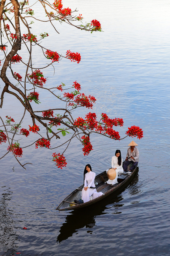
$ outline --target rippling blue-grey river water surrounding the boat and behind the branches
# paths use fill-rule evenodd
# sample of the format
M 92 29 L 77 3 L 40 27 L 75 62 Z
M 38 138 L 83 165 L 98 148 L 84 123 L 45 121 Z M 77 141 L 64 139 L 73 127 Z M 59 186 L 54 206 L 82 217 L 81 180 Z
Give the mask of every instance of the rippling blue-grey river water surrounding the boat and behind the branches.
M 85 164 L 90 163 L 96 174 L 102 172 L 110 167 L 116 149 L 125 159 L 132 139 L 91 136 L 94 150 L 86 157 L 73 141 L 62 170 L 51 161 L 52 150 L 26 148 L 21 162 L 32 163 L 26 170 L 8 154 L 0 169 L 0 255 L 169 255 L 170 2 L 67 0 L 63 4 L 77 7 L 87 21 L 99 20 L 104 32 L 90 34 L 63 24 L 57 27 L 58 35 L 47 24 L 41 29 L 39 23 L 32 25 L 33 34 L 37 30 L 51 34 L 45 39 L 51 50 L 64 54 L 70 49 L 82 56 L 79 64 L 68 60 L 56 64 L 54 75 L 47 70 L 47 86 L 77 80 L 83 92 L 96 97 L 93 110 L 98 116 L 104 112 L 124 119 L 124 127 L 118 129 L 121 137 L 129 126 L 141 127 L 144 137 L 133 138 L 140 152 L 139 171 L 124 191 L 97 206 L 59 213 L 57 205 L 83 183 Z M 38 7 L 32 9 L 41 16 Z M 35 54 L 37 64 L 41 59 Z M 15 69 L 22 70 L 19 64 Z M 40 93 L 40 101 L 45 109 L 56 106 L 45 92 Z M 86 113 L 82 109 L 78 115 Z M 1 115 L 17 121 L 22 114 L 15 99 L 6 96 Z M 22 143 L 33 140 L 28 137 Z M 1 145 L 2 150 L 6 147 Z

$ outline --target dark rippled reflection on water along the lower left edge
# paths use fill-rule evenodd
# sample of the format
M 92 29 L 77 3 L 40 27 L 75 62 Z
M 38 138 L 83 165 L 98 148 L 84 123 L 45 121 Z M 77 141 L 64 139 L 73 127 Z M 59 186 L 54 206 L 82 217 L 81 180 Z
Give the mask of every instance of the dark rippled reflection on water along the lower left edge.
M 14 231 L 15 222 L 12 219 L 14 211 L 8 208 L 8 201 L 12 198 L 12 191 L 5 189 L 0 199 L 0 255 L 11 256 L 17 251 L 15 241 L 18 239 Z

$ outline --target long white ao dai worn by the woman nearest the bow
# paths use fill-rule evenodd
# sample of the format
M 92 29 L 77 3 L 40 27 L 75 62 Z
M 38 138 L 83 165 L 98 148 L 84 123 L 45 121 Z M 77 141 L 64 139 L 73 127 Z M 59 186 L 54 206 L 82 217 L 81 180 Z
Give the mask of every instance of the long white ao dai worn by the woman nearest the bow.
M 96 177 L 96 173 L 94 172 L 89 172 L 85 174 L 85 179 L 84 179 L 84 187 L 87 187 L 87 190 L 82 190 L 82 200 L 84 201 L 84 203 L 90 201 L 90 196 L 92 195 L 92 198 L 95 199 L 101 195 L 103 195 L 102 192 L 97 192 L 96 188 L 90 188 L 95 187 L 95 177 Z

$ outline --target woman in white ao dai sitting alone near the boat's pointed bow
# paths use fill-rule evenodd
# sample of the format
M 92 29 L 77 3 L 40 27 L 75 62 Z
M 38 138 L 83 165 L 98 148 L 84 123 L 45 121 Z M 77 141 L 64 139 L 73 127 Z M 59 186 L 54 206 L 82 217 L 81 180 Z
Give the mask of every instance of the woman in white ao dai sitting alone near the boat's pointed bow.
M 84 168 L 84 187 L 82 190 L 82 200 L 84 203 L 90 201 L 90 196 L 95 199 L 98 196 L 103 195 L 102 192 L 97 192 L 95 187 L 96 173 L 92 172 L 91 165 L 87 164 Z

